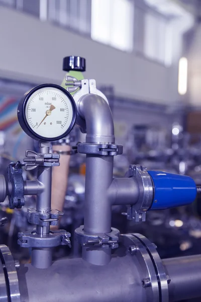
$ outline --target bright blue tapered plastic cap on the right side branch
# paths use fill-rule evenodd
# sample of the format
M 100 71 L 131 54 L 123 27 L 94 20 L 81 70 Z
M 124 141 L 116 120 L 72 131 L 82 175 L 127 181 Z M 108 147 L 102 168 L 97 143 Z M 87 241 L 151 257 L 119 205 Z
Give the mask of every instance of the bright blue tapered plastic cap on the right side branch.
M 189 176 L 148 171 L 154 186 L 154 198 L 149 210 L 162 210 L 186 205 L 195 200 L 197 190 Z

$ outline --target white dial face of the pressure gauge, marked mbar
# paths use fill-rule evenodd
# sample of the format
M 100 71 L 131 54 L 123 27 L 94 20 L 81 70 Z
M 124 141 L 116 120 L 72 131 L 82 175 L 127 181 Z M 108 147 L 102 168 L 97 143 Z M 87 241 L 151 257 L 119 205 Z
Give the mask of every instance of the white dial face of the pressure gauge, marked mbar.
M 36 134 L 45 138 L 59 137 L 71 125 L 73 107 L 63 91 L 44 87 L 35 91 L 27 100 L 25 116 Z

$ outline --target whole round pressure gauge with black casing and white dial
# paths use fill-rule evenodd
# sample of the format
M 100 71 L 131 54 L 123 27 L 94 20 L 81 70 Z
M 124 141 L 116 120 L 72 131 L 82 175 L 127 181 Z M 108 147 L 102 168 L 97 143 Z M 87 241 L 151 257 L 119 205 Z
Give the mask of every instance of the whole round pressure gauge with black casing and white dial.
M 28 91 L 18 106 L 22 129 L 37 140 L 52 141 L 66 136 L 76 119 L 72 96 L 53 84 L 39 85 Z

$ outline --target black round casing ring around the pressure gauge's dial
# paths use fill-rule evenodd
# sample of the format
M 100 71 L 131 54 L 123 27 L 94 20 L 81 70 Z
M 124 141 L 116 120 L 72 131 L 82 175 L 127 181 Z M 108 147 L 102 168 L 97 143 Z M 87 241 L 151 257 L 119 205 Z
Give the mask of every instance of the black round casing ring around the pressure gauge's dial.
M 27 103 L 29 102 L 29 100 L 31 99 L 31 97 L 33 96 L 34 93 L 36 93 L 37 91 L 40 91 L 41 89 L 44 89 L 44 88 L 47 88 L 47 91 L 48 91 L 48 88 L 60 91 L 62 94 L 64 94 L 67 97 L 70 105 L 72 106 L 72 120 L 71 120 L 67 130 L 65 132 L 63 132 L 61 135 L 58 135 L 55 137 L 45 137 L 43 135 L 36 133 L 27 120 L 28 119 L 27 113 L 26 113 Z M 41 101 L 41 102 L 43 102 L 43 101 Z M 67 104 L 66 104 L 66 106 L 67 106 Z M 65 137 L 72 130 L 72 128 L 75 124 L 76 113 L 77 113 L 77 108 L 76 108 L 74 99 L 70 95 L 70 93 L 68 91 L 66 91 L 64 88 L 62 88 L 61 86 L 54 85 L 54 84 L 43 84 L 43 85 L 34 87 L 32 90 L 25 93 L 25 95 L 22 97 L 22 99 L 20 100 L 20 103 L 18 105 L 18 121 L 19 121 L 22 129 L 25 131 L 26 134 L 28 134 L 33 139 L 43 140 L 43 141 L 54 141 L 54 140 L 58 140 L 58 139 Z M 50 131 L 51 131 L 51 129 L 50 129 Z

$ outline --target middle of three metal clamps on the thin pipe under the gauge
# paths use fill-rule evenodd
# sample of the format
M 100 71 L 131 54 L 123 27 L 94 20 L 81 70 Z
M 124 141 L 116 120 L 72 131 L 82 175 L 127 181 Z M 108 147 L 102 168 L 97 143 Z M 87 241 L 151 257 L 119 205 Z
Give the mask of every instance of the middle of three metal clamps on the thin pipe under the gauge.
M 58 210 L 51 210 L 41 213 L 36 211 L 34 208 L 29 208 L 27 212 L 28 221 L 41 226 L 58 225 L 59 216 L 63 215 L 63 212 Z

